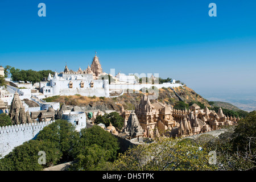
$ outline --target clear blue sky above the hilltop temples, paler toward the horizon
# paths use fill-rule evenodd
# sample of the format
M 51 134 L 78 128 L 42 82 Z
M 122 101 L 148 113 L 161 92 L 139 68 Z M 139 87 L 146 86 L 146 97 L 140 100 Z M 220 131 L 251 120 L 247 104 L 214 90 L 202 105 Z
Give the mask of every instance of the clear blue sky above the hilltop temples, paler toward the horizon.
M 38 4 L 46 4 L 46 17 Z M 210 17 L 209 3 L 217 17 Z M 256 92 L 256 1 L 1 0 L 0 64 L 159 73 L 199 94 Z

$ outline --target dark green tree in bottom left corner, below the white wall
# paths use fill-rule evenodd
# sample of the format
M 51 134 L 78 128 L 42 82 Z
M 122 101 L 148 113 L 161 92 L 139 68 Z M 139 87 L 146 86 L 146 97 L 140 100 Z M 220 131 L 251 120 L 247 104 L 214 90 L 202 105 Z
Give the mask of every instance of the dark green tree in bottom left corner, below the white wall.
M 46 152 L 46 164 L 39 164 L 39 151 Z M 54 142 L 29 140 L 0 159 L 0 171 L 38 171 L 57 164 L 61 151 Z

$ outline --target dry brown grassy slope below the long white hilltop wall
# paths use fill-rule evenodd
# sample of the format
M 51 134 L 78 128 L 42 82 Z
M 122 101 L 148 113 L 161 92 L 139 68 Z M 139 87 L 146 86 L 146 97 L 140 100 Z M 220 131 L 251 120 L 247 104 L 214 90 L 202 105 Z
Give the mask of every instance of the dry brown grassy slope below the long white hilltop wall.
M 199 101 L 205 106 L 210 106 L 208 101 L 197 94 L 194 90 L 188 88 L 187 86 L 174 88 L 175 92 L 180 96 L 180 98 L 186 103 L 192 101 Z M 176 96 L 174 90 L 170 88 L 162 88 L 159 89 L 158 101 L 166 102 L 170 105 L 175 105 L 179 102 L 179 97 Z M 148 94 L 148 93 L 146 93 Z M 134 109 L 135 106 L 139 104 L 141 101 L 143 93 L 126 93 L 122 96 L 115 98 L 105 98 L 105 97 L 85 97 L 76 94 L 76 96 L 53 96 L 46 98 L 47 102 L 60 102 L 65 105 L 73 105 L 73 106 L 82 106 L 85 107 L 86 110 L 97 110 L 100 109 L 102 111 L 105 110 L 116 110 L 119 111 L 123 106 L 127 110 Z

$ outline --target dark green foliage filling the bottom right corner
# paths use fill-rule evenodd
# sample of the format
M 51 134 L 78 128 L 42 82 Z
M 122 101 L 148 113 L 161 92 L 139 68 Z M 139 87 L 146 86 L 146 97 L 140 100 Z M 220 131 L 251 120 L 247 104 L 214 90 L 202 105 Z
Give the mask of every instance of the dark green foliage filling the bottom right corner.
M 203 148 L 216 151 L 218 170 L 245 171 L 255 169 L 256 111 L 229 127 L 218 138 L 201 135 L 196 142 Z

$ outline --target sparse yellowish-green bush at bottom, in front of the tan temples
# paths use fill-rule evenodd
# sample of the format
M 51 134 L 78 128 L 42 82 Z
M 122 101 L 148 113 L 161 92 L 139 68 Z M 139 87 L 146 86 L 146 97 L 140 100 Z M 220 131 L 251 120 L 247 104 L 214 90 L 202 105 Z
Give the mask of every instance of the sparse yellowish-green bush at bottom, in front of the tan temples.
M 214 170 L 208 162 L 208 150 L 190 140 L 159 138 L 154 143 L 139 145 L 119 155 L 115 170 Z

